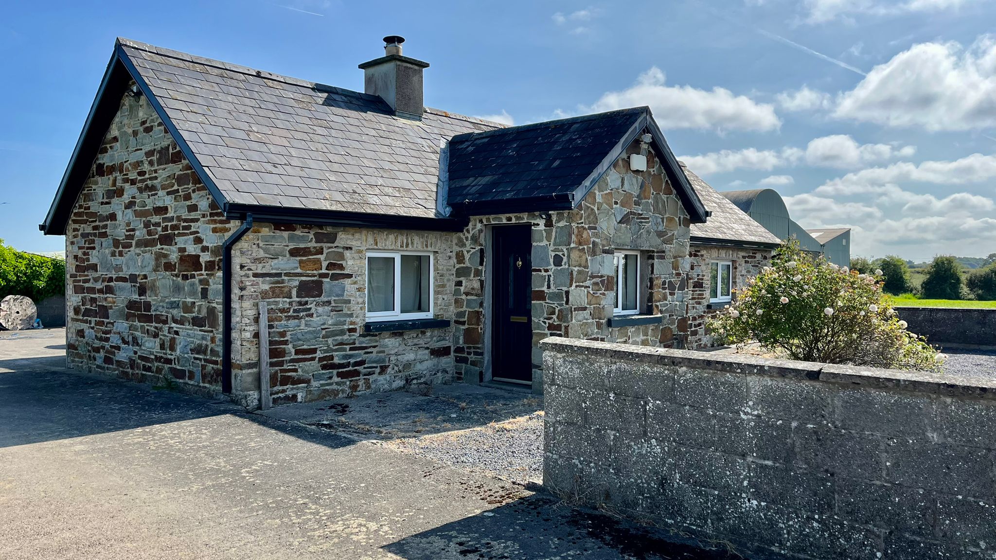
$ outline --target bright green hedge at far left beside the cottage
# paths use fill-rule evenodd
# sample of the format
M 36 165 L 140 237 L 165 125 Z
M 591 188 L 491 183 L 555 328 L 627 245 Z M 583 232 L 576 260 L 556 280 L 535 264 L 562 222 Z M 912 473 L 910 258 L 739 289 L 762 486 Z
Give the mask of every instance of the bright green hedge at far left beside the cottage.
M 0 239 L 0 299 L 28 296 L 38 303 L 66 294 L 66 263 L 18 251 Z

